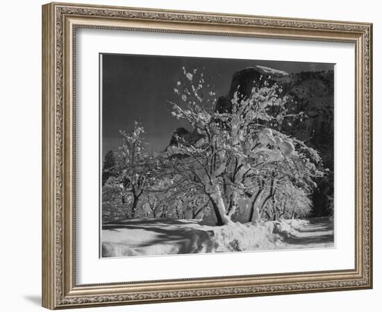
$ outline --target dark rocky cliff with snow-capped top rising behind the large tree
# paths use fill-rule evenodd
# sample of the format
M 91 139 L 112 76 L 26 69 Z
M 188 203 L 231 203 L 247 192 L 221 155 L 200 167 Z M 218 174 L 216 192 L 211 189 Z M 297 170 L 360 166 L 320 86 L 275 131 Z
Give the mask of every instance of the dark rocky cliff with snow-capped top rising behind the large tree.
M 306 112 L 308 119 L 302 125 L 293 125 L 290 135 L 310 141 L 315 144 L 324 144 L 329 139 L 333 142 L 333 71 L 302 71 L 301 73 L 287 73 L 270 67 L 249 67 L 237 71 L 232 78 L 229 93 L 217 99 L 215 110 L 219 113 L 231 112 L 231 100 L 238 92 L 242 98 L 251 95 L 253 87 L 264 87 L 277 83 L 282 94 L 288 96 L 290 101 L 298 103 L 295 107 L 298 114 Z M 288 129 L 285 129 L 288 131 Z M 298 130 L 294 132 L 293 130 Z M 322 139 L 325 142 L 321 142 Z

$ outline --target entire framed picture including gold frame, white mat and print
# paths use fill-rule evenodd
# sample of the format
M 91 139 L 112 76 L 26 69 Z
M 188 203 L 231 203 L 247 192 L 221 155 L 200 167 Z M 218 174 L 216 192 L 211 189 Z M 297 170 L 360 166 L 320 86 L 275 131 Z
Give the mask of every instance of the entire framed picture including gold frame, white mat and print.
M 42 6 L 42 305 L 372 288 L 372 24 Z

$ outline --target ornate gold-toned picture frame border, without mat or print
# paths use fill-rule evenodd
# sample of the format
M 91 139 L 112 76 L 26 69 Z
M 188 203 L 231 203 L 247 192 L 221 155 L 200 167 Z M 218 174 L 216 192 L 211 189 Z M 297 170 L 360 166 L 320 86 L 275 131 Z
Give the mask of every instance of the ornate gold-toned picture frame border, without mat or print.
M 77 285 L 74 231 L 76 28 L 352 42 L 356 46 L 356 266 Z M 42 305 L 49 309 L 372 288 L 372 24 L 49 3 L 42 6 Z

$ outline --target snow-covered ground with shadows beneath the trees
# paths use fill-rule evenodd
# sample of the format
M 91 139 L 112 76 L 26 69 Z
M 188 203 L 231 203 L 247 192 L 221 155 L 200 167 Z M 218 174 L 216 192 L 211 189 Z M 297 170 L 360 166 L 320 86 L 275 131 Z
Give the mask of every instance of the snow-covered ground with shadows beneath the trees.
M 103 224 L 102 256 L 126 257 L 334 246 L 333 220 L 265 221 L 222 227 L 198 220 L 124 219 Z

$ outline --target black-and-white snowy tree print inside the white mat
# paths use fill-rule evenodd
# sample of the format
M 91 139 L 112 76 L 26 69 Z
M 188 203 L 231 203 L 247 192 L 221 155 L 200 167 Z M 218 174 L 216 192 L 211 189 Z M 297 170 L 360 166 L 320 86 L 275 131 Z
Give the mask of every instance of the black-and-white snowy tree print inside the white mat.
M 101 257 L 335 247 L 335 64 L 99 60 Z

